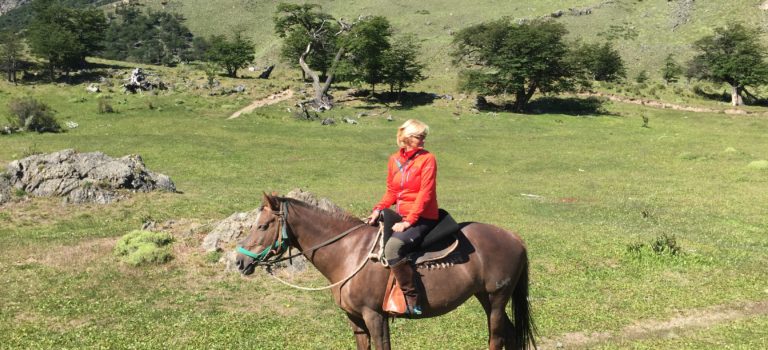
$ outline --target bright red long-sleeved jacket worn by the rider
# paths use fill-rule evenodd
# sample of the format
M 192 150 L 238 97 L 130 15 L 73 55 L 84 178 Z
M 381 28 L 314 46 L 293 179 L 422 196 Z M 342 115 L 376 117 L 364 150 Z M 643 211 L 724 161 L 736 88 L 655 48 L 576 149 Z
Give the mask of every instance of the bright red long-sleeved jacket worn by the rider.
M 402 168 L 402 169 L 401 169 Z M 387 165 L 387 192 L 374 209 L 397 204 L 396 211 L 411 225 L 419 218 L 437 220 L 437 161 L 432 153 L 405 148 L 392 154 Z

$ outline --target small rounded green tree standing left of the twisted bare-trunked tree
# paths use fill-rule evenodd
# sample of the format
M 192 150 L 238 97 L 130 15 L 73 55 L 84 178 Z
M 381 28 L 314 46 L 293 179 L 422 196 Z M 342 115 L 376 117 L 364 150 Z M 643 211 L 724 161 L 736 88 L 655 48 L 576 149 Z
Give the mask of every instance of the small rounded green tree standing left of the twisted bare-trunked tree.
M 206 57 L 227 71 L 227 76 L 236 78 L 237 70 L 253 61 L 253 43 L 237 32 L 232 41 L 223 35 L 216 35 L 209 40 L 211 47 Z

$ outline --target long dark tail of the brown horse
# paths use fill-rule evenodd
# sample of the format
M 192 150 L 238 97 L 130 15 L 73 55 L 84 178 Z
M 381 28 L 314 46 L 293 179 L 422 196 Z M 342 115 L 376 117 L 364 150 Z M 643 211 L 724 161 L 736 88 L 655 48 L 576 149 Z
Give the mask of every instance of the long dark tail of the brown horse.
M 536 348 L 536 325 L 531 315 L 531 304 L 528 302 L 528 255 L 523 251 L 523 268 L 520 278 L 512 292 L 512 307 L 514 308 L 515 322 L 513 323 L 513 342 L 516 349 Z

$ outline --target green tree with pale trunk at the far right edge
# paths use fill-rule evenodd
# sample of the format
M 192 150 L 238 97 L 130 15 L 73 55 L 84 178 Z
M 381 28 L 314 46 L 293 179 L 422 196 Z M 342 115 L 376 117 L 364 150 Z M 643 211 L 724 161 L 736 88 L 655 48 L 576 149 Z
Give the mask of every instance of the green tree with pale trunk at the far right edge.
M 747 86 L 768 82 L 768 64 L 760 32 L 741 24 L 715 29 L 715 34 L 694 43 L 698 54 L 689 64 L 694 77 L 731 86 L 731 104 L 744 104 Z

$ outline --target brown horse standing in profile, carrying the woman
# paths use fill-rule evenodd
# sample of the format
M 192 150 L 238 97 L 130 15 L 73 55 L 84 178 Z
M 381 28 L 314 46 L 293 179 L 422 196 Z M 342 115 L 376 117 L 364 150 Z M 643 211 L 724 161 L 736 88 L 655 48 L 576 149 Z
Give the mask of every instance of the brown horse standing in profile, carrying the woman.
M 516 234 L 482 224 L 460 224 L 462 258 L 445 268 L 419 268 L 423 314 L 445 314 L 475 296 L 485 309 L 490 349 L 536 347 L 528 303 L 528 258 Z M 368 261 L 376 229 L 344 213 L 329 213 L 305 202 L 264 195 L 257 225 L 238 247 L 241 273 L 269 265 L 288 246 L 329 281 L 334 301 L 349 318 L 358 349 L 390 349 L 389 316 L 382 302 L 389 271 Z M 361 267 L 362 266 L 362 267 Z M 359 271 L 358 271 L 359 270 Z M 351 276 L 351 277 L 350 277 Z M 514 322 L 505 308 L 512 301 Z

